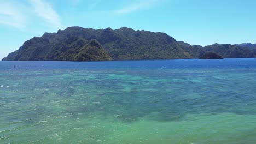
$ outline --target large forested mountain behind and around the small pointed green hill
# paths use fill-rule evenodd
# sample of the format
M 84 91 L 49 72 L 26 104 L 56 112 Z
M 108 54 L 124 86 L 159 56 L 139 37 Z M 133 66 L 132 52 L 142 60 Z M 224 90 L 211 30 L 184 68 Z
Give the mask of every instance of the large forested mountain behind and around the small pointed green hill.
M 117 30 L 69 27 L 64 31 L 34 37 L 24 43 L 15 57 L 3 60 L 72 61 L 73 55 L 80 52 L 77 47 L 92 39 L 99 41 L 114 60 L 193 58 L 165 33 L 134 31 L 126 27 Z

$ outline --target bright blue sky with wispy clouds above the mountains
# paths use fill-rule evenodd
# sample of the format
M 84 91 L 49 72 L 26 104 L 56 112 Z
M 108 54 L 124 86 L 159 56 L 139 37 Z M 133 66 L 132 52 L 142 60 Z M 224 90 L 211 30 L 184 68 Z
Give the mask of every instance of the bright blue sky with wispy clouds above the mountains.
M 0 59 L 71 26 L 164 32 L 191 45 L 256 43 L 254 0 L 0 0 Z

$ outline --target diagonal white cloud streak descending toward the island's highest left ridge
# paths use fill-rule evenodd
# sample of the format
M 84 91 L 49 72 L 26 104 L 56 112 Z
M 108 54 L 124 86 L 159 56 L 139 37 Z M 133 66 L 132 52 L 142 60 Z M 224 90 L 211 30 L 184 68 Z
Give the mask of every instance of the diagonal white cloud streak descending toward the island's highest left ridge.
M 53 9 L 52 5 L 43 0 L 29 0 L 37 16 L 48 22 L 50 25 L 62 28 L 60 16 Z

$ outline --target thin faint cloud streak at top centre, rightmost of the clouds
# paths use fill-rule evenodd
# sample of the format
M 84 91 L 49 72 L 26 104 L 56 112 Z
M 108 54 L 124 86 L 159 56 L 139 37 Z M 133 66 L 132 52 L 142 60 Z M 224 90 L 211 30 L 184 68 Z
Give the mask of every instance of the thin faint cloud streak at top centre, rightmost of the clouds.
M 157 3 L 158 3 L 158 1 L 156 1 L 156 0 L 136 1 L 136 3 L 133 3 L 131 5 L 127 5 L 127 6 L 123 7 L 123 8 L 115 10 L 115 13 L 117 13 L 117 14 L 132 13 L 132 12 L 144 9 L 144 8 L 153 7 Z

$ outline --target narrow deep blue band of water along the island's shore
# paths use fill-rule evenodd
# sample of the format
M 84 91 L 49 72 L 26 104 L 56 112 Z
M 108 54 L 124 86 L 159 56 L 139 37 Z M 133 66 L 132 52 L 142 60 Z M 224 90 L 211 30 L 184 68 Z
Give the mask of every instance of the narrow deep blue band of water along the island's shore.
M 255 58 L 228 59 L 172 59 L 152 61 L 110 61 L 110 62 L 13 62 L 2 61 L 1 70 L 11 69 L 181 69 L 181 68 L 255 68 Z

